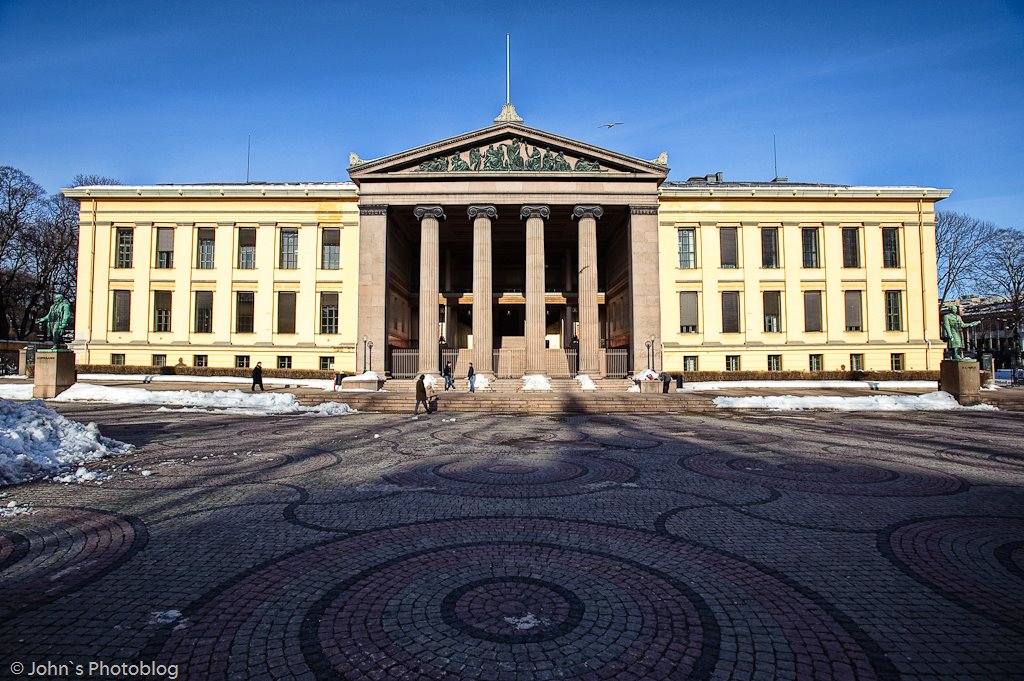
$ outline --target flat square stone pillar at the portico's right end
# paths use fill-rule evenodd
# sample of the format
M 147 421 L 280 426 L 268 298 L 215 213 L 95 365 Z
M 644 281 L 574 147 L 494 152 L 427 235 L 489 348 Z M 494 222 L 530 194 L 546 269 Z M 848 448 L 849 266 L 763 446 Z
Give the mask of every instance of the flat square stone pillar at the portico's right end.
M 633 370 L 647 368 L 645 343 L 654 339 L 654 368 L 662 368 L 662 295 L 658 276 L 657 203 L 630 206 L 630 350 Z M 655 370 L 655 371 L 656 371 Z

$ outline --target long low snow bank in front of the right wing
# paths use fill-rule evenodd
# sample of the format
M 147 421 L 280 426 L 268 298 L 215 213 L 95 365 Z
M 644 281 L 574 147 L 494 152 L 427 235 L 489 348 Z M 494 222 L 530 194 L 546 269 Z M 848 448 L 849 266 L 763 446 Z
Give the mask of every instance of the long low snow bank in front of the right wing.
M 840 412 L 938 412 L 949 410 L 995 411 L 991 405 L 962 407 L 948 392 L 924 395 L 863 395 L 829 397 L 827 395 L 757 395 L 750 397 L 716 397 L 720 409 L 767 409 L 787 412 L 804 409 L 828 409 Z

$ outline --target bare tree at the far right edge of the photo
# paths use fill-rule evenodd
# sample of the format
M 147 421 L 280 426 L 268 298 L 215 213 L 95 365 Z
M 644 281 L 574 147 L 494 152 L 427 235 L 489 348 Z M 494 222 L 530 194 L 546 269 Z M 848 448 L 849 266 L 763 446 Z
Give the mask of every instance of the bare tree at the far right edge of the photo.
M 1010 303 L 1013 329 L 1013 363 L 1021 366 L 1021 334 L 1024 328 L 1024 231 L 996 229 L 988 241 L 976 270 L 983 292 L 1000 296 Z

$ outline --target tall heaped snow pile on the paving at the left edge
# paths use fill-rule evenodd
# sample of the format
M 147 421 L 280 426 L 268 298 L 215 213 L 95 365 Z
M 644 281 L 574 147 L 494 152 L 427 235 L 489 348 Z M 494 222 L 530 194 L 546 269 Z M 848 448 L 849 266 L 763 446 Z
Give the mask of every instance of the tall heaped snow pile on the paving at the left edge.
M 96 424 L 71 421 L 41 401 L 0 399 L 0 484 L 62 473 L 131 450 L 131 444 L 101 436 Z

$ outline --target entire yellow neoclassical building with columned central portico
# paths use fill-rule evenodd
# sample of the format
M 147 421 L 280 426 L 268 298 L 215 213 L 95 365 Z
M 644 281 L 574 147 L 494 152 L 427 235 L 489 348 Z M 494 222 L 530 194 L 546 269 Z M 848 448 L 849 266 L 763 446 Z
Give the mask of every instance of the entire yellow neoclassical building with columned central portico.
M 722 175 L 523 125 L 348 182 L 80 186 L 80 364 L 395 376 L 938 369 L 948 189 Z

